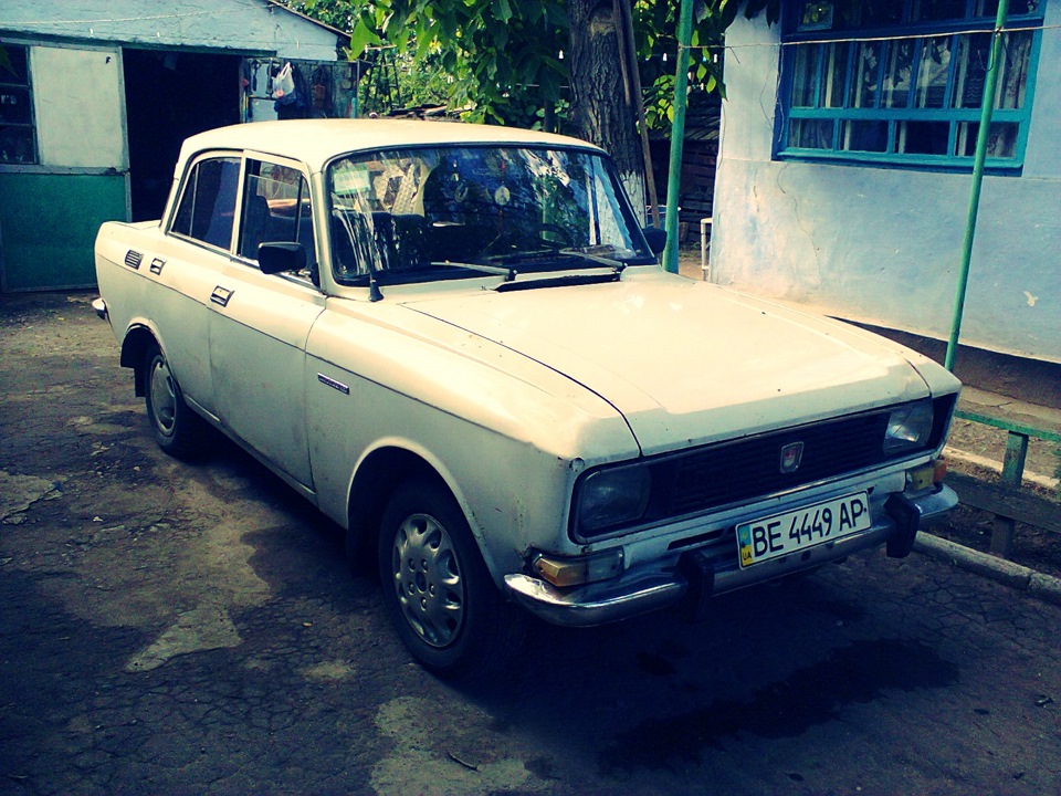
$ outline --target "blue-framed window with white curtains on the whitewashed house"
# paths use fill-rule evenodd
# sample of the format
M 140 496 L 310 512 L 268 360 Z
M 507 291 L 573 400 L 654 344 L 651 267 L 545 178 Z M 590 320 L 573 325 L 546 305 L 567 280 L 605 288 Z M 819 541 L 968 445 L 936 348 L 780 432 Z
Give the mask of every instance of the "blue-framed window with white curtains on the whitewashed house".
M 1019 170 L 1046 0 L 1011 0 L 987 167 Z M 998 0 L 795 2 L 782 18 L 775 153 L 969 169 Z

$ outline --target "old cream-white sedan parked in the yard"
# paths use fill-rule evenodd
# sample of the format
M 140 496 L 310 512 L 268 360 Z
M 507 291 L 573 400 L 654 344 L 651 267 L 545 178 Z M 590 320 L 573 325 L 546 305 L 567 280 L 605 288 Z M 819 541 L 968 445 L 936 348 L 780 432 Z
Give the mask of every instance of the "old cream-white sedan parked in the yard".
M 427 122 L 189 138 L 101 298 L 158 443 L 219 429 L 346 530 L 441 674 L 526 609 L 595 625 L 885 545 L 949 510 L 959 384 L 663 272 L 600 149 Z

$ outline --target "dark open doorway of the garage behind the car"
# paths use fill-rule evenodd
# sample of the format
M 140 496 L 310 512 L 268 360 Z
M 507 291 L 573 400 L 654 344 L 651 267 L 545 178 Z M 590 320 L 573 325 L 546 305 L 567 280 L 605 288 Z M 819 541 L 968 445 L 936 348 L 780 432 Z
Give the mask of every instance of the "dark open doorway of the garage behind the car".
M 180 145 L 240 121 L 240 55 L 178 50 L 122 53 L 133 221 L 160 218 Z

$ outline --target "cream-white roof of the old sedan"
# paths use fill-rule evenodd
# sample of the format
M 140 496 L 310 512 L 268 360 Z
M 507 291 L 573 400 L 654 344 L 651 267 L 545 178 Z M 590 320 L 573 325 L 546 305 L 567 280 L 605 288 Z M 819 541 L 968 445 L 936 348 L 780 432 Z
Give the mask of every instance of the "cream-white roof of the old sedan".
M 578 138 L 516 127 L 421 122 L 418 119 L 290 119 L 219 127 L 185 140 L 178 169 L 190 157 L 210 149 L 250 149 L 305 163 L 319 171 L 336 155 L 405 146 L 445 144 L 517 144 L 579 147 L 600 151 Z

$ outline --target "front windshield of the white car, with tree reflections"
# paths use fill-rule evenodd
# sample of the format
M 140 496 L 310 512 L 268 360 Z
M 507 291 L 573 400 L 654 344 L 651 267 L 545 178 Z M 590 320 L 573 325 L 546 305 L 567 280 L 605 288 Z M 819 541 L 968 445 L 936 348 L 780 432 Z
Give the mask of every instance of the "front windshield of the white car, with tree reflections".
M 655 263 L 614 170 L 593 153 L 361 153 L 333 161 L 328 186 L 340 284 L 366 284 L 374 272 L 395 284 Z

